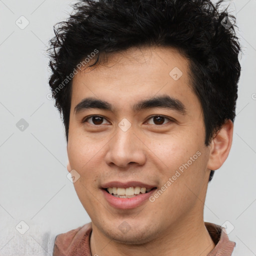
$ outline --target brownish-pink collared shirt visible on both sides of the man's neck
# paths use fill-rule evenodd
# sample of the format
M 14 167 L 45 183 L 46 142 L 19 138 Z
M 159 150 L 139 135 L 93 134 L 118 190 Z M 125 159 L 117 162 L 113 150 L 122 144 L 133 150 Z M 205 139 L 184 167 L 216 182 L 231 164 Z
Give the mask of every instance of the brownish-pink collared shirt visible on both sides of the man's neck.
M 228 239 L 223 227 L 204 222 L 215 247 L 207 256 L 231 256 L 235 242 Z M 55 238 L 52 256 L 92 256 L 90 253 L 91 222 L 72 229 L 66 233 L 58 234 Z

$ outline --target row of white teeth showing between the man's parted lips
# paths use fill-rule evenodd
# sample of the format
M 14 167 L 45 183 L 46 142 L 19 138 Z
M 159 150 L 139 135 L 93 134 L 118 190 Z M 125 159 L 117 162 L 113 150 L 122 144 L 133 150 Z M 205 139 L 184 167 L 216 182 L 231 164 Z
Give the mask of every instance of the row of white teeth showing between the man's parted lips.
M 104 188 L 106 192 L 109 194 L 118 197 L 118 198 L 131 198 L 138 196 L 139 194 L 148 193 L 152 189 L 156 189 L 156 187 L 146 188 L 140 186 L 130 186 L 127 188 L 124 187 L 107 187 Z

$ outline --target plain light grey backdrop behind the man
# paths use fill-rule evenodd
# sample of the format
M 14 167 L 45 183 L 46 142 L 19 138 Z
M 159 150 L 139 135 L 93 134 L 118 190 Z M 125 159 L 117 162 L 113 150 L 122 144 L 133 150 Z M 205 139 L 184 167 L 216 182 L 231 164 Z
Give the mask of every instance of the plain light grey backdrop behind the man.
M 70 0 L 0 0 L 0 255 L 51 255 L 55 235 L 90 221 L 67 179 L 64 127 L 48 86 L 48 40 Z M 243 46 L 233 143 L 208 186 L 204 219 L 256 255 L 256 0 L 230 2 Z M 20 29 L 23 15 L 29 24 Z M 19 21 L 20 22 L 20 21 Z M 24 20 L 22 21 L 24 24 Z M 254 93 L 254 94 L 253 94 Z M 253 99 L 254 98 L 254 99 Z M 29 126 L 20 131 L 24 118 Z M 22 235 L 15 226 L 25 221 Z M 24 225 L 23 225 L 24 227 Z M 23 228 L 22 227 L 22 228 Z

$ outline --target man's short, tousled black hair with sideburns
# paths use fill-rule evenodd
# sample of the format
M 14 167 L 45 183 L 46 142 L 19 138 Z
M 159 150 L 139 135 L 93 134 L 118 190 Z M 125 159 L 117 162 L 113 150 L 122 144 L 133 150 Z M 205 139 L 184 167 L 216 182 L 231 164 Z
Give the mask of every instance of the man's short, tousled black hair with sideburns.
M 80 0 L 73 4 L 69 18 L 54 25 L 55 36 L 48 48 L 49 85 L 66 140 L 72 91 L 69 75 L 77 64 L 93 66 L 103 59 L 100 56 L 153 45 L 171 46 L 189 59 L 191 86 L 202 107 L 205 145 L 209 145 L 226 119 L 234 121 L 241 69 L 235 17 L 227 8 L 220 10 L 222 1 L 215 5 L 210 0 Z

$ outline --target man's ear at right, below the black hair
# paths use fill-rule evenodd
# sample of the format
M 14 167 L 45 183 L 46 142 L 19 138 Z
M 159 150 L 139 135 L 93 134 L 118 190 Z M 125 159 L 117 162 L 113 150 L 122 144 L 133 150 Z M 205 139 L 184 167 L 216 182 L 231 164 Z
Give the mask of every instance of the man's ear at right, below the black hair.
M 227 119 L 211 141 L 207 163 L 208 169 L 216 170 L 224 163 L 231 148 L 232 138 L 233 123 L 230 119 Z

